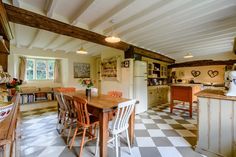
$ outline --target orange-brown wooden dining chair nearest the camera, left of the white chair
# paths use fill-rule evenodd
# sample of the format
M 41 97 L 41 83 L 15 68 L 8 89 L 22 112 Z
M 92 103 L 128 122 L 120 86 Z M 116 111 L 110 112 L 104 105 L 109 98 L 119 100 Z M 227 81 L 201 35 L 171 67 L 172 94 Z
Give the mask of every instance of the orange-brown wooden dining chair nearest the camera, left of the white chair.
M 74 135 L 71 140 L 70 149 L 74 145 L 76 135 L 82 134 L 82 140 L 80 145 L 79 156 L 82 157 L 83 146 L 86 142 L 96 139 L 97 127 L 99 125 L 99 119 L 96 116 L 90 115 L 87 109 L 87 100 L 80 97 L 73 97 L 74 105 L 77 112 L 77 126 L 75 128 Z M 82 132 L 78 132 L 79 128 L 82 128 Z M 85 141 L 85 136 L 88 136 L 88 140 Z M 97 144 L 98 145 L 98 138 Z M 97 154 L 97 147 L 95 155 Z

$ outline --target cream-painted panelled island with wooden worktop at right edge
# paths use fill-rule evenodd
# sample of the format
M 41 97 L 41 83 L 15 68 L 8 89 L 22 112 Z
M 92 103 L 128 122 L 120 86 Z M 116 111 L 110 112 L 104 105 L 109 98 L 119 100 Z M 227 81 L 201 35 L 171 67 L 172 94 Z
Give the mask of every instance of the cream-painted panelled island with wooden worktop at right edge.
M 236 97 L 206 89 L 198 97 L 196 151 L 208 157 L 236 157 Z

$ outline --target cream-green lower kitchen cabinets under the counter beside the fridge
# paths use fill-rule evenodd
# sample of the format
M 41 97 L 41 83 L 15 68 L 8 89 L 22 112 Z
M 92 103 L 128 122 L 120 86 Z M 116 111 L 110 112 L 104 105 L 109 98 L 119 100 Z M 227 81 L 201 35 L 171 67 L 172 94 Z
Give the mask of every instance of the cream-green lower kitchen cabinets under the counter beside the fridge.
M 167 85 L 149 86 L 148 87 L 148 107 L 155 107 L 157 105 L 169 102 L 170 88 Z

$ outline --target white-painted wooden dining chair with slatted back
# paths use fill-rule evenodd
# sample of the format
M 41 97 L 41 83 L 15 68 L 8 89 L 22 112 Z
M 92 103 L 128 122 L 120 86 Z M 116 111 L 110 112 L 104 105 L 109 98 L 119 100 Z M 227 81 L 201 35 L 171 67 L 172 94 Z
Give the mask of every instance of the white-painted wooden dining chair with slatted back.
M 131 154 L 130 140 L 128 135 L 129 119 L 134 110 L 136 100 L 130 100 L 120 103 L 117 108 L 117 113 L 112 121 L 112 125 L 109 127 L 109 132 L 112 134 L 112 138 L 108 143 L 115 142 L 116 157 L 119 155 L 118 151 L 118 137 L 122 137 L 121 133 L 126 132 L 127 144 L 129 152 Z

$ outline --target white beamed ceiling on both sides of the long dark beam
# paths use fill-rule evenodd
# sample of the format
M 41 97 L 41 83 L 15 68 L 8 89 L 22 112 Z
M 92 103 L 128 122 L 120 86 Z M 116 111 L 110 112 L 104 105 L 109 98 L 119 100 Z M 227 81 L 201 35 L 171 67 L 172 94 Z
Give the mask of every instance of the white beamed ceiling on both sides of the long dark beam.
M 159 52 L 179 61 L 232 53 L 236 37 L 236 0 L 4 0 L 8 4 Z M 111 19 L 115 24 L 111 24 Z M 89 55 L 104 46 L 11 24 L 16 46 L 75 52 L 81 44 Z M 193 58 L 194 59 L 194 58 Z M 222 58 L 223 59 L 223 58 Z

